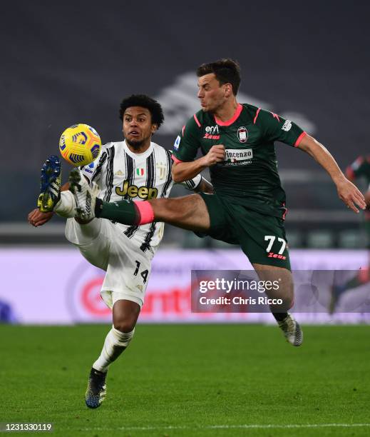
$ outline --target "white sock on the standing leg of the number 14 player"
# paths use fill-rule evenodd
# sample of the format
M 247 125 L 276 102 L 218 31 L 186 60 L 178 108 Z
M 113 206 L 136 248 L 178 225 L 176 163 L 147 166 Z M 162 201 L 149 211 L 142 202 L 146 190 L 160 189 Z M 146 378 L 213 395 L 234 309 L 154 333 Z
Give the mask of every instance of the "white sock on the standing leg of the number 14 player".
M 106 341 L 104 341 L 101 355 L 96 362 L 93 363 L 93 368 L 101 372 L 108 371 L 109 364 L 113 363 L 113 361 L 120 356 L 125 348 L 127 348 L 128 344 L 133 338 L 134 332 L 135 328 L 131 332 L 124 333 L 113 327 L 106 336 Z

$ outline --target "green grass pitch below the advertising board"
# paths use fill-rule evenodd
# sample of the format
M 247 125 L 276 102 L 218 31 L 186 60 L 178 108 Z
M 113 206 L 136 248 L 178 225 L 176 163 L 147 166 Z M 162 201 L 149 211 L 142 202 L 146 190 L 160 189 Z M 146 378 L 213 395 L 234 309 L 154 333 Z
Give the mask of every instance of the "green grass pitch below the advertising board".
M 370 435 L 370 326 L 304 326 L 294 348 L 275 326 L 139 325 L 89 410 L 108 330 L 0 326 L 0 422 L 51 422 L 53 436 Z

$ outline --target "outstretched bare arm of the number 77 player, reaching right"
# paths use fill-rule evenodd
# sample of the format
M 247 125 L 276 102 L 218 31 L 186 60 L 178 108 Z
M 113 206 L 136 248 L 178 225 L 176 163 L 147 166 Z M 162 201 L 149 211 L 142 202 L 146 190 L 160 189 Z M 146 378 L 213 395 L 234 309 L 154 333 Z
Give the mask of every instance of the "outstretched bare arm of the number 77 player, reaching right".
M 361 209 L 366 208 L 365 199 L 361 191 L 351 181 L 346 179 L 333 156 L 319 141 L 312 136 L 306 135 L 300 142 L 299 149 L 311 155 L 329 173 L 336 185 L 339 199 L 344 201 L 348 208 L 351 208 L 356 213 L 359 212 L 356 206 L 359 206 Z

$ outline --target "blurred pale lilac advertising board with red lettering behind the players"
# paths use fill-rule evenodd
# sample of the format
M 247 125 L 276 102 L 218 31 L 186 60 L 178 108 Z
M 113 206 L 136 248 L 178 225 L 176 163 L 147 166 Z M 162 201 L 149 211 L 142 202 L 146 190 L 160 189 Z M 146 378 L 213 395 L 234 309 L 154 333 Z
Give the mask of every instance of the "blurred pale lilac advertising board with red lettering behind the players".
M 368 253 L 356 250 L 292 250 L 299 271 L 366 271 Z M 100 296 L 104 272 L 91 266 L 76 248 L 1 248 L 0 315 L 25 324 L 111 323 Z M 274 323 L 269 313 L 192 312 L 191 271 L 251 270 L 240 250 L 160 249 L 140 314 L 141 323 Z M 298 290 L 299 292 L 299 290 Z M 369 283 L 343 296 L 341 311 L 299 313 L 302 323 L 369 323 L 370 313 L 346 312 L 346 299 L 370 302 Z M 304 301 L 296 293 L 296 305 Z M 329 296 L 327 296 L 327 300 Z M 307 301 L 307 299 L 306 299 Z M 353 298 L 351 300 L 353 302 Z M 339 307 L 340 308 L 340 307 Z M 296 308 L 299 311 L 299 308 Z

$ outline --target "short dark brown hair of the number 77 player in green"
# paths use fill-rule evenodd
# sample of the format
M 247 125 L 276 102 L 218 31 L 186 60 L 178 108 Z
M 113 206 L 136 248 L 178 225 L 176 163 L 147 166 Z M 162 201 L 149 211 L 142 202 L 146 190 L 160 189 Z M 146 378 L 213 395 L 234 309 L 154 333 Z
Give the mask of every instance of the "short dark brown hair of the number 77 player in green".
M 205 74 L 215 74 L 220 85 L 231 84 L 232 94 L 237 95 L 237 90 L 240 86 L 240 65 L 234 59 L 225 58 L 209 64 L 202 64 L 197 68 L 197 76 L 204 76 Z

